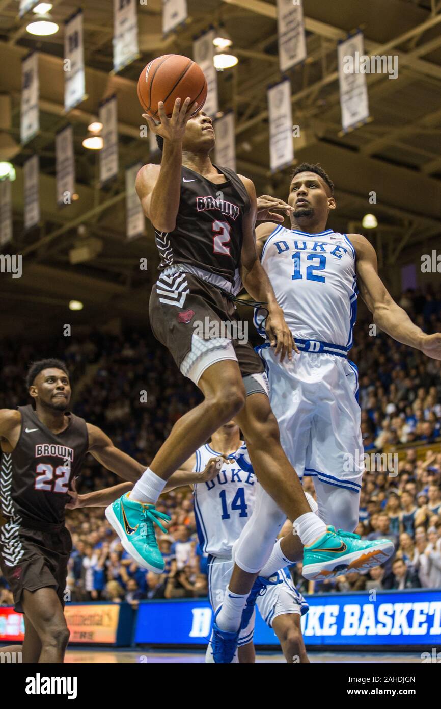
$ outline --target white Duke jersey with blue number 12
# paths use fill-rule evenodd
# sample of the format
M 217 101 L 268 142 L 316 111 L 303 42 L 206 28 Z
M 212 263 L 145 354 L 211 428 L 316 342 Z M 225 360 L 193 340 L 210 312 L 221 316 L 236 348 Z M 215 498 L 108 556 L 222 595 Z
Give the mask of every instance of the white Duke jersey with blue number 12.
M 355 250 L 348 236 L 331 229 L 307 234 L 278 226 L 263 247 L 261 261 L 294 337 L 350 350 L 358 289 Z M 256 326 L 258 322 L 257 311 Z M 265 337 L 264 330 L 259 332 Z

